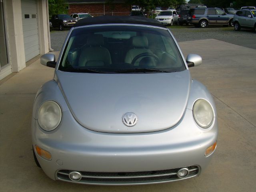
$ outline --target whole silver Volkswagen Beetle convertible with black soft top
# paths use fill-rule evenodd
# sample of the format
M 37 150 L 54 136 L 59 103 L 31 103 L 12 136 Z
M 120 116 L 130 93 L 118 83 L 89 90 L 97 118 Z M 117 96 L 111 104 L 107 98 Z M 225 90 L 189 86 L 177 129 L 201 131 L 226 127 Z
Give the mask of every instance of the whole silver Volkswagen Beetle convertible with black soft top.
M 36 94 L 32 144 L 53 180 L 152 184 L 198 176 L 217 145 L 214 100 L 192 80 L 170 30 L 156 20 L 102 16 L 70 29 L 54 78 Z

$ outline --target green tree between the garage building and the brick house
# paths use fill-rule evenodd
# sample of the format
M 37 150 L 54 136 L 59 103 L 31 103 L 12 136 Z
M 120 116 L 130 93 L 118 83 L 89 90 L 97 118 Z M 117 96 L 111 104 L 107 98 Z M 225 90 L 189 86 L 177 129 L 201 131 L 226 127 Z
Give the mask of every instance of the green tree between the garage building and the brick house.
M 66 0 L 48 0 L 49 15 L 67 14 Z

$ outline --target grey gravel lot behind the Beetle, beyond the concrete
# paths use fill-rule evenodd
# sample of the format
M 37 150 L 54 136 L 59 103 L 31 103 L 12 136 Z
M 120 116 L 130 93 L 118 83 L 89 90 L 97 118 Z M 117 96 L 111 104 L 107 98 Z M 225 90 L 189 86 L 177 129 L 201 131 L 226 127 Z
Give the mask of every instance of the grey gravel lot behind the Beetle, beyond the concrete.
M 208 27 L 205 29 L 194 26 L 169 27 L 178 42 L 217 39 L 224 42 L 256 49 L 256 33 L 252 30 L 242 29 L 234 31 L 232 27 Z M 69 30 L 51 32 L 51 45 L 54 51 L 59 51 Z

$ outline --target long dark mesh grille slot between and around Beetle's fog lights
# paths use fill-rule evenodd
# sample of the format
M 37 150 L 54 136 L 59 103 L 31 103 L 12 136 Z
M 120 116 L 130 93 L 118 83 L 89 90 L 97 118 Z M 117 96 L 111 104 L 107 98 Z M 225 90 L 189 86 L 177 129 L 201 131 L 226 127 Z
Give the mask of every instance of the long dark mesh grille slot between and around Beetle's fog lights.
M 199 172 L 198 166 L 188 166 L 190 171 L 185 178 L 194 177 Z M 125 184 L 146 184 L 157 182 L 170 182 L 181 180 L 178 178 L 177 172 L 180 168 L 142 171 L 142 172 L 86 172 L 78 171 L 82 175 L 82 179 L 77 183 L 83 184 L 102 184 L 102 185 L 125 185 Z M 69 178 L 69 173 L 73 170 L 59 170 L 56 172 L 56 179 L 73 182 Z

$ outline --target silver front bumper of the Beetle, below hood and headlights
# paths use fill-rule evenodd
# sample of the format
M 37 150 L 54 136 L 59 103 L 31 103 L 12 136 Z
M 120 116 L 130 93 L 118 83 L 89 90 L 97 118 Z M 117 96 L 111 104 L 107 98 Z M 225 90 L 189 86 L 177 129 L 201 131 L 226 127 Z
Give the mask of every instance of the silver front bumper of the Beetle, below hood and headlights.
M 210 162 L 211 155 L 204 156 L 206 148 L 217 140 L 218 128 L 214 123 L 208 129 L 200 128 L 193 119 L 191 110 L 186 109 L 180 122 L 167 130 L 137 134 L 112 134 L 88 130 L 78 124 L 69 110 L 62 114 L 62 122 L 51 132 L 40 128 L 32 119 L 32 143 L 35 148 L 47 150 L 52 155 L 48 161 L 36 157 L 42 170 L 53 180 L 72 182 L 70 171 L 86 172 L 90 179 L 80 180 L 83 184 L 131 185 L 170 182 L 184 178 L 168 175 L 158 179 L 134 179 L 127 174 L 134 172 L 158 173 L 176 168 L 197 167 L 185 178 L 199 175 Z M 36 152 L 35 152 L 36 153 Z M 64 174 L 61 174 L 63 173 Z M 96 172 L 96 173 L 95 173 Z M 66 173 L 66 175 L 65 175 Z M 98 174 L 94 178 L 92 174 Z M 102 174 L 114 174 L 104 179 Z M 117 175 L 115 175 L 117 174 Z M 143 178 L 138 173 L 136 177 Z M 139 173 L 140 174 L 140 173 Z M 86 175 L 86 174 L 85 174 Z M 175 174 L 174 174 L 175 175 Z M 99 178 L 100 176 L 100 178 Z M 129 176 L 130 177 L 130 176 Z

